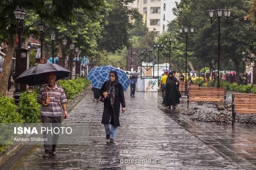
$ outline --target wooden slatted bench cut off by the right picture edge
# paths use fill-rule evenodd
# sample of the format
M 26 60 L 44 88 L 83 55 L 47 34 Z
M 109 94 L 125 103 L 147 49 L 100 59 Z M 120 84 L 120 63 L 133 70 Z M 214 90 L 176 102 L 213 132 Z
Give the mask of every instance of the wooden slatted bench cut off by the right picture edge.
M 232 125 L 236 113 L 256 114 L 256 94 L 232 94 Z

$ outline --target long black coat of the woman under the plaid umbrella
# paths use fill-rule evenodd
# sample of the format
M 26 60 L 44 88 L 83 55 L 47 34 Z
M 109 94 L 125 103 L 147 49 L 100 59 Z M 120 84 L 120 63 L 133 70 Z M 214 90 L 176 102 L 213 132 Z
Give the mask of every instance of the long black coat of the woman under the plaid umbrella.
M 106 81 L 102 88 L 100 89 L 100 95 L 103 96 L 103 92 L 105 92 L 105 86 L 108 81 Z M 106 98 L 104 100 L 104 109 L 102 114 L 102 124 L 108 124 L 109 119 L 111 117 L 110 124 L 118 127 L 120 126 L 119 123 L 119 114 L 120 114 L 120 104 L 123 107 L 125 107 L 125 100 L 124 100 L 124 89 L 123 86 L 120 83 L 117 83 L 115 85 L 115 102 L 114 102 L 114 108 L 111 107 L 111 101 L 110 98 Z

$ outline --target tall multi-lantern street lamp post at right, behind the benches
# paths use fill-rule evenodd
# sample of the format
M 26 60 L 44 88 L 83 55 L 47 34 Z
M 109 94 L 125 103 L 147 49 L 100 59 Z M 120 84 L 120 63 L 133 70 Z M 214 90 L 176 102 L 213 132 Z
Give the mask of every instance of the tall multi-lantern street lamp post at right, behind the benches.
M 213 15 L 215 15 L 216 17 L 213 18 Z M 218 36 L 218 86 L 219 85 L 219 81 L 220 81 L 220 23 L 221 23 L 221 18 L 225 19 L 228 23 L 228 17 L 230 17 L 230 13 L 231 10 L 230 9 L 216 9 L 216 10 L 207 10 L 208 16 L 210 17 L 210 23 L 213 23 L 213 20 L 215 20 L 216 18 L 218 19 L 218 23 L 219 23 L 219 36 Z M 222 17 L 222 13 L 224 13 L 224 17 Z

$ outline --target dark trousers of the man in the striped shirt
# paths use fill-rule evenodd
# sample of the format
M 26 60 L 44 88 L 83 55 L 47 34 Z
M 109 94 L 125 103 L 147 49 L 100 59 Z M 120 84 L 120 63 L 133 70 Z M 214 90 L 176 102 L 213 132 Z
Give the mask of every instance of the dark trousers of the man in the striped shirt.
M 61 116 L 43 116 L 41 115 L 43 127 L 49 130 L 54 127 L 61 127 Z M 52 124 L 53 123 L 53 124 Z M 47 130 L 43 132 L 43 138 L 47 138 L 47 141 L 43 141 L 45 153 L 52 153 L 56 149 L 59 134 L 51 134 Z

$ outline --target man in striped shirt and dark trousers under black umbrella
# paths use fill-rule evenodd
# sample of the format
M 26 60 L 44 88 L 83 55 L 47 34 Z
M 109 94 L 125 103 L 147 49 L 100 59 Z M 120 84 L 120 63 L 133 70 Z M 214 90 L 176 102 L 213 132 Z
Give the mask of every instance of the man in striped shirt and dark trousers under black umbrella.
M 52 128 L 60 127 L 62 110 L 64 110 L 63 117 L 66 119 L 67 114 L 67 98 L 64 89 L 55 83 L 56 74 L 49 73 L 46 75 L 47 85 L 39 89 L 37 96 L 38 103 L 42 104 L 41 107 L 41 119 L 43 125 L 50 129 L 50 123 Z M 59 139 L 59 134 L 47 134 L 43 133 L 43 138 L 47 138 L 47 142 L 44 142 L 45 155 L 43 157 L 51 157 L 56 154 L 56 143 Z

